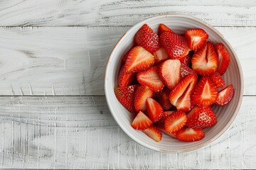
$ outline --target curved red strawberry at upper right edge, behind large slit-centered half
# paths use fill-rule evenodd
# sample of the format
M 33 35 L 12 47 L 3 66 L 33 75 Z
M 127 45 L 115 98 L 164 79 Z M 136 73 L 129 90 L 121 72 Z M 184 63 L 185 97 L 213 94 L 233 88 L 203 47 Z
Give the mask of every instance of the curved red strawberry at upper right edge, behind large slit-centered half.
M 220 75 L 223 75 L 225 71 L 228 69 L 228 65 L 230 63 L 230 55 L 225 45 L 222 43 L 217 43 L 214 45 L 215 52 L 218 55 L 218 72 Z

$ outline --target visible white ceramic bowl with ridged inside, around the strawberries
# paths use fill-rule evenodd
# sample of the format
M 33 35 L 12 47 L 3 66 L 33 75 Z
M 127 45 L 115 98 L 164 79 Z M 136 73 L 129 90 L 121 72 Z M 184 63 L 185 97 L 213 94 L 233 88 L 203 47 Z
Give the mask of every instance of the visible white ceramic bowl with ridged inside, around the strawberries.
M 134 35 L 144 23 L 147 23 L 155 32 L 157 32 L 159 23 L 164 23 L 178 34 L 185 33 L 189 28 L 203 28 L 203 30 L 206 30 L 206 33 L 208 33 L 208 40 L 210 42 L 222 42 L 230 52 L 230 65 L 227 72 L 223 75 L 223 79 L 225 80 L 226 85 L 233 84 L 235 87 L 235 96 L 228 105 L 213 108 L 217 115 L 218 123 L 212 128 L 205 129 L 206 137 L 204 137 L 203 140 L 198 142 L 181 142 L 163 133 L 162 140 L 160 142 L 154 142 L 154 140 L 151 140 L 151 138 L 147 137 L 143 132 L 134 130 L 131 127 L 134 117 L 119 103 L 119 101 L 117 101 L 117 98 L 114 96 L 114 87 L 117 86 L 117 76 L 121 66 L 122 56 L 132 47 Z M 242 69 L 235 51 L 228 41 L 223 38 L 223 35 L 218 32 L 218 30 L 198 18 L 193 18 L 191 16 L 155 16 L 137 23 L 135 26 L 130 28 L 122 38 L 120 38 L 107 62 L 105 73 L 105 95 L 107 98 L 107 104 L 114 119 L 122 130 L 124 130 L 124 132 L 134 141 L 144 147 L 148 147 L 149 149 L 154 149 L 159 152 L 188 152 L 213 142 L 213 140 L 217 139 L 223 134 L 223 132 L 225 132 L 225 130 L 228 129 L 235 119 L 242 102 L 242 94 Z

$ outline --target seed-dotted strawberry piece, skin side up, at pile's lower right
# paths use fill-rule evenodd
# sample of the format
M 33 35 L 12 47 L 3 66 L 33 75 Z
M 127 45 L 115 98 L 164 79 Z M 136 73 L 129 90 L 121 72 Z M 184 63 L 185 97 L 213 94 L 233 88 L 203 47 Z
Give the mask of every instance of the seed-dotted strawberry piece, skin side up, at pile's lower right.
M 215 113 L 210 107 L 201 108 L 195 106 L 187 116 L 188 120 L 186 125 L 193 129 L 210 128 L 217 123 Z

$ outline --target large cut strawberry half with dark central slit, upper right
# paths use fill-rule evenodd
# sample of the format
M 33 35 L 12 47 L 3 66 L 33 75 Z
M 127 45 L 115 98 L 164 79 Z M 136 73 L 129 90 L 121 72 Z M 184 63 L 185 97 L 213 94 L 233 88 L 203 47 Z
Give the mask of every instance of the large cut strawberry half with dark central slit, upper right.
M 192 69 L 202 76 L 210 76 L 218 69 L 218 57 L 213 45 L 206 42 L 198 49 L 191 59 Z

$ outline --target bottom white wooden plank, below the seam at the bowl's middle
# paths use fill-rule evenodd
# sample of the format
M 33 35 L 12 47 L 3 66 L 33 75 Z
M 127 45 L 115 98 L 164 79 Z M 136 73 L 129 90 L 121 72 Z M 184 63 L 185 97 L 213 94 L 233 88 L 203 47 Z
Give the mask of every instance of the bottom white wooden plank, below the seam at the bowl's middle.
M 102 97 L 0 97 L 0 167 L 38 169 L 255 169 L 256 97 L 202 149 L 165 154 L 131 140 Z

